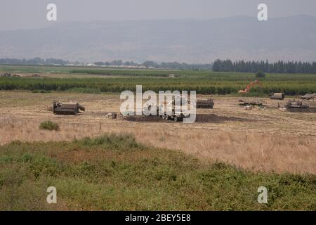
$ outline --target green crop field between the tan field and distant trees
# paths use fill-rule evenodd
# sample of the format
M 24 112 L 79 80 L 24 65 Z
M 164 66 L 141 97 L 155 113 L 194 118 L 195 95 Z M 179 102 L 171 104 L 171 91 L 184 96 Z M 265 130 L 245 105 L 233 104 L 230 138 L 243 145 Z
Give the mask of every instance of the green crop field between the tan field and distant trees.
M 189 70 L 126 70 L 105 68 L 73 68 L 57 66 L 0 66 L 0 72 L 42 73 L 46 77 L 1 77 L 1 90 L 76 91 L 86 93 L 178 90 L 197 91 L 197 94 L 237 94 L 254 81 L 252 73 L 211 72 Z M 63 76 L 49 77 L 49 73 Z M 170 78 L 169 74 L 176 77 Z M 66 76 L 65 76 L 66 75 Z M 67 77 L 69 75 L 69 77 Z M 79 77 L 71 77 L 79 75 Z M 90 77 L 86 77 L 90 75 Z M 93 77 L 98 75 L 98 77 Z M 82 77 L 81 77 L 82 76 Z M 101 76 L 101 77 L 100 77 Z M 102 76 L 107 77 L 103 79 Z M 316 75 L 267 74 L 260 79 L 261 89 L 255 86 L 249 96 L 268 96 L 270 92 L 298 95 L 316 92 Z

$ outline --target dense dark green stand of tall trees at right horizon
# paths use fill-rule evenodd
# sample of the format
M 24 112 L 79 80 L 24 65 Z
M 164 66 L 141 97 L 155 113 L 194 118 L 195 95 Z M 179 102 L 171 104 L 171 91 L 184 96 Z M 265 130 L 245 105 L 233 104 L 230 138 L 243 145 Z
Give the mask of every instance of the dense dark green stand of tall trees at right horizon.
M 272 72 L 272 73 L 313 73 L 316 74 L 316 62 L 282 61 L 269 63 L 268 60 L 244 61 L 216 60 L 213 63 L 216 72 Z

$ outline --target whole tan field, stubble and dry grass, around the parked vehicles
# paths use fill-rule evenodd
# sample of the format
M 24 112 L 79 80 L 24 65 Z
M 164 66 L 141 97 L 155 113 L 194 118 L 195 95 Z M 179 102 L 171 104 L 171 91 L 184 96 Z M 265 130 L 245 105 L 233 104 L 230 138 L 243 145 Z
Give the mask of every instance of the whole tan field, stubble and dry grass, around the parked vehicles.
M 205 160 L 255 171 L 316 174 L 316 113 L 312 110 L 282 112 L 277 105 L 287 99 L 268 98 L 260 98 L 268 105 L 265 110 L 244 110 L 237 97 L 212 97 L 213 109 L 199 109 L 195 124 L 183 124 L 158 117 L 107 118 L 107 113 L 119 112 L 119 94 L 0 91 L 0 145 L 14 140 L 67 141 L 104 132 L 130 133 L 147 145 L 180 149 Z M 53 115 L 47 110 L 53 100 L 78 101 L 86 112 Z M 316 107 L 316 101 L 308 104 Z M 44 120 L 58 122 L 60 131 L 40 130 Z

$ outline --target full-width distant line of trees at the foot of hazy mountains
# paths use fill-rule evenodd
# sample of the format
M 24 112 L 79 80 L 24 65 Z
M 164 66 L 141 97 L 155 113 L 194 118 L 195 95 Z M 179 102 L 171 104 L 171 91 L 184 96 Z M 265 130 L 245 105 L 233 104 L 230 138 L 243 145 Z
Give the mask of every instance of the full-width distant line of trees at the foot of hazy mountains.
M 0 65 L 85 65 L 85 63 L 74 62 L 57 58 L 0 58 Z M 188 64 L 188 63 L 157 63 L 154 61 L 145 61 L 143 63 L 134 63 L 133 61 L 112 60 L 110 62 L 95 62 L 96 66 L 122 66 L 122 67 L 145 67 L 155 69 L 170 70 L 213 70 L 215 72 L 270 72 L 270 73 L 310 73 L 316 74 L 316 62 L 301 61 L 283 61 L 278 60 L 269 63 L 268 60 L 244 61 L 244 60 L 215 60 L 213 63 Z

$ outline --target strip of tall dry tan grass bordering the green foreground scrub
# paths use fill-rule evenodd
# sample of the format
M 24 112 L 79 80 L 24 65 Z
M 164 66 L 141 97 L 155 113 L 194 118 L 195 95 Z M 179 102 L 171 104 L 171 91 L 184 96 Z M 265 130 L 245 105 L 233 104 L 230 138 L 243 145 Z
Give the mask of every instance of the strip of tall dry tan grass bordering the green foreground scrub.
M 60 131 L 39 129 L 39 120 L 8 117 L 0 121 L 0 143 L 10 141 L 72 141 L 105 133 L 131 134 L 140 143 L 159 148 L 182 150 L 211 162 L 225 162 L 244 169 L 263 172 L 316 174 L 316 137 L 291 134 L 251 133 L 250 131 L 216 131 L 178 129 L 177 127 L 133 127 L 99 123 L 72 124 L 58 122 Z M 21 129 L 22 127 L 22 129 Z M 72 153 L 75 154 L 75 153 Z M 79 154 L 79 153 L 77 153 Z M 88 157 L 88 155 L 87 155 Z M 92 157 L 92 156 L 91 156 Z

